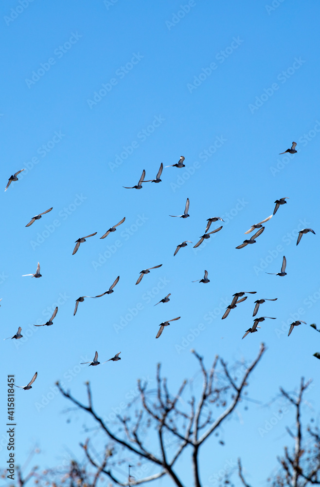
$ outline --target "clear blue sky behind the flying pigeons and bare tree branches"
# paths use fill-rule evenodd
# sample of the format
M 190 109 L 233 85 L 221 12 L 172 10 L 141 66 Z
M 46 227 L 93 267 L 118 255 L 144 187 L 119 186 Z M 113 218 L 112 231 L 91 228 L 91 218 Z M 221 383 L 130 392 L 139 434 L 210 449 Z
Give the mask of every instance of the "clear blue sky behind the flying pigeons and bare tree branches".
M 82 458 L 78 444 L 89 418 L 63 413 L 70 404 L 55 394 L 55 381 L 85 399 L 90 380 L 95 408 L 108 417 L 139 377 L 154 379 L 158 362 L 173 391 L 195 375 L 192 347 L 208 365 L 216 354 L 233 363 L 253 359 L 263 341 L 267 352 L 250 397 L 265 404 L 303 375 L 314 379 L 307 401 L 315 411 L 306 408 L 306 418 L 317 414 L 319 362 L 312 354 L 320 347 L 309 324 L 317 323 L 320 301 L 319 5 L 194 0 L 183 16 L 187 3 L 178 1 L 21 2 L 0 7 L 3 189 L 26 168 L 2 192 L 1 330 L 5 338 L 21 326 L 24 338 L 2 342 L 1 383 L 15 374 L 24 385 L 38 372 L 31 391 L 16 391 L 18 462 L 35 445 L 40 453 L 31 463 L 42 468 L 61 464 L 70 451 Z M 298 153 L 279 155 L 293 140 Z M 142 169 L 155 178 L 161 163 L 175 164 L 180 155 L 186 167 L 164 169 L 160 184 L 123 188 L 136 185 Z M 170 218 L 183 213 L 187 197 L 190 218 Z M 282 197 L 290 199 L 257 244 L 236 250 Z M 173 257 L 182 241 L 196 244 L 214 216 L 225 220 L 223 229 Z M 303 235 L 296 246 L 305 227 L 317 235 Z M 74 242 L 94 232 L 72 256 Z M 287 276 L 267 275 L 280 271 L 284 255 Z M 37 262 L 42 278 L 22 278 Z M 142 269 L 160 263 L 135 286 Z M 193 283 L 204 269 L 210 283 Z M 86 299 L 73 317 L 79 296 L 107 291 L 118 275 L 112 295 Z M 244 290 L 257 294 L 221 321 L 232 295 Z M 169 303 L 153 306 L 168 293 Z M 259 310 L 277 319 L 242 341 L 261 298 L 278 298 Z M 56 305 L 53 326 L 33 326 Z M 156 341 L 159 324 L 178 316 Z M 295 319 L 307 325 L 287 337 Z M 119 351 L 122 360 L 80 367 L 95 350 L 101 361 Z M 212 439 L 201 451 L 204 485 L 240 454 L 248 481 L 264 482 L 290 444 L 290 410 L 259 434 L 279 407 L 240 406 L 221 431 L 225 446 Z M 5 418 L 4 401 L 0 410 Z M 253 464 L 257 449 L 264 455 Z M 185 457 L 179 469 L 188 467 Z

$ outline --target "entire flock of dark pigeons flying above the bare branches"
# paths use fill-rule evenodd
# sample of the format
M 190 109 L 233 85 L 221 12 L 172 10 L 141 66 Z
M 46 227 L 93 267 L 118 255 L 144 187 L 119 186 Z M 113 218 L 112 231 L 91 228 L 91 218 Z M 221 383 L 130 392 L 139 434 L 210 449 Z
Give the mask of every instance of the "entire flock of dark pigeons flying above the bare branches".
M 296 142 L 293 142 L 291 149 L 287 149 L 284 152 L 281 152 L 281 154 L 284 154 L 285 152 L 289 152 L 290 154 L 296 153 L 297 152 L 297 150 L 295 149 L 296 148 L 296 145 L 297 145 Z M 176 167 L 176 168 L 179 168 L 179 169 L 184 168 L 185 167 L 185 165 L 183 164 L 184 159 L 185 158 L 183 156 L 181 156 L 177 164 L 172 164 L 171 166 L 165 166 L 165 167 L 166 168 Z M 24 169 L 21 169 L 21 170 L 17 171 L 15 174 L 13 174 L 13 175 L 10 176 L 9 181 L 8 181 L 8 184 L 5 187 L 5 191 L 8 189 L 8 187 L 10 186 L 10 184 L 13 181 L 18 181 L 18 177 L 17 176 L 23 170 Z M 143 169 L 142 175 L 141 175 L 141 178 L 140 178 L 138 184 L 135 185 L 135 186 L 132 186 L 132 187 L 126 187 L 126 186 L 124 186 L 124 188 L 126 188 L 126 189 L 134 189 L 134 188 L 135 189 L 142 189 L 142 183 L 150 183 L 150 182 L 152 182 L 152 183 L 160 183 L 161 182 L 160 176 L 161 176 L 162 170 L 163 170 L 163 164 L 161 163 L 160 169 L 158 171 L 158 174 L 157 174 L 156 178 L 155 179 L 152 179 L 152 180 L 144 181 L 144 178 L 145 178 L 145 170 Z M 272 218 L 272 216 L 276 214 L 276 212 L 278 211 L 278 208 L 281 205 L 284 205 L 284 204 L 287 203 L 285 201 L 287 199 L 288 199 L 288 197 L 284 197 L 284 198 L 280 198 L 279 200 L 276 200 L 274 202 L 276 204 L 276 206 L 274 208 L 273 214 L 270 215 L 270 216 L 268 216 L 267 218 L 265 218 L 261 222 L 255 224 L 255 225 L 252 225 L 249 228 L 249 230 L 247 230 L 245 232 L 245 234 L 249 234 L 249 233 L 251 233 L 255 229 L 258 229 L 258 231 L 253 236 L 251 236 L 250 239 L 244 240 L 244 242 L 241 245 L 238 245 L 235 248 L 240 249 L 240 248 L 243 248 L 243 247 L 247 246 L 248 244 L 255 244 L 256 243 L 256 240 L 255 239 L 257 237 L 259 237 L 263 233 L 263 231 L 265 230 L 265 227 L 263 226 L 263 224 L 266 223 L 266 222 L 268 222 Z M 189 201 L 189 198 L 187 198 L 186 205 L 185 205 L 185 209 L 184 209 L 184 213 L 182 215 L 169 215 L 169 216 L 174 217 L 174 218 L 188 218 L 190 216 L 188 214 L 189 206 L 190 206 L 190 201 Z M 48 210 L 43 211 L 42 213 L 39 213 L 38 215 L 34 216 L 31 219 L 31 221 L 26 225 L 26 227 L 31 226 L 36 220 L 39 220 L 42 217 L 42 215 L 45 215 L 46 213 L 49 213 L 52 209 L 53 209 L 53 207 L 51 207 Z M 104 239 L 111 232 L 115 232 L 117 230 L 117 226 L 123 224 L 124 223 L 124 220 L 125 220 L 125 217 L 119 223 L 117 223 L 116 225 L 114 225 L 111 228 L 109 228 L 107 230 L 107 232 L 102 237 L 100 237 L 100 239 Z M 219 226 L 215 230 L 213 230 L 211 232 L 208 232 L 208 230 L 210 229 L 211 224 L 214 223 L 214 222 L 217 222 L 217 221 L 224 222 L 224 220 L 222 220 L 221 217 L 208 218 L 208 220 L 207 220 L 208 223 L 207 223 L 207 226 L 206 226 L 206 229 L 205 229 L 205 233 L 200 237 L 200 240 L 196 243 L 196 245 L 194 245 L 194 248 L 196 248 L 199 245 L 201 245 L 202 242 L 205 239 L 209 239 L 210 238 L 210 235 L 212 235 L 212 234 L 214 234 L 216 232 L 219 232 L 222 229 L 222 226 Z M 305 234 L 305 233 L 308 233 L 308 232 L 311 232 L 311 233 L 315 234 L 315 232 L 314 232 L 314 230 L 312 228 L 304 228 L 304 229 L 302 229 L 299 232 L 299 235 L 298 235 L 297 245 L 301 241 L 302 235 Z M 81 237 L 78 240 L 76 240 L 75 241 L 75 247 L 73 249 L 72 255 L 74 255 L 78 251 L 78 249 L 80 247 L 80 244 L 83 244 L 84 242 L 86 242 L 86 239 L 88 239 L 89 237 L 93 237 L 96 234 L 97 234 L 97 232 L 91 233 L 90 235 L 87 235 L 86 237 Z M 178 244 L 178 246 L 177 246 L 177 248 L 175 250 L 174 256 L 177 255 L 177 253 L 180 250 L 180 248 L 186 247 L 188 243 L 192 244 L 192 242 L 190 240 L 185 240 L 181 244 Z M 157 269 L 157 268 L 161 267 L 161 265 L 162 264 L 155 265 L 154 267 L 149 267 L 147 269 L 143 269 L 140 272 L 140 276 L 139 276 L 136 284 L 139 284 L 141 282 L 143 276 L 145 274 L 149 274 L 150 273 L 150 270 Z M 284 276 L 286 276 L 285 267 L 286 267 L 286 259 L 285 259 L 285 256 L 284 256 L 283 257 L 283 263 L 282 263 L 281 272 L 278 272 L 278 273 L 270 273 L 270 272 L 267 272 L 267 274 L 273 274 L 273 275 L 277 275 L 277 276 L 280 276 L 280 277 L 284 277 Z M 35 277 L 35 278 L 40 278 L 41 277 L 41 274 L 40 274 L 40 264 L 39 264 L 39 262 L 38 262 L 38 265 L 37 265 L 37 268 L 36 268 L 36 273 L 35 274 L 24 274 L 23 277 L 25 277 L 25 276 L 32 276 L 32 277 Z M 105 296 L 106 294 L 113 293 L 114 292 L 113 291 L 113 288 L 116 286 L 116 284 L 118 283 L 119 279 L 120 279 L 120 276 L 118 276 L 115 279 L 115 281 L 113 282 L 113 284 L 103 294 L 99 294 L 98 296 L 81 296 L 80 298 L 78 298 L 75 301 L 75 308 L 74 308 L 73 316 L 75 316 L 75 314 L 77 312 L 79 302 L 83 302 L 85 300 L 85 298 L 96 299 L 96 298 L 101 298 L 102 296 Z M 197 280 L 197 281 L 192 281 L 192 282 L 201 282 L 201 283 L 204 283 L 204 284 L 207 284 L 208 282 L 210 282 L 210 280 L 208 279 L 208 271 L 207 270 L 204 271 L 204 277 L 203 277 L 203 279 Z M 227 318 L 227 316 L 229 315 L 231 309 L 236 308 L 237 307 L 237 304 L 239 304 L 239 303 L 247 300 L 248 296 L 243 297 L 245 294 L 256 294 L 256 291 L 242 291 L 242 292 L 239 292 L 239 293 L 235 293 L 233 295 L 233 299 L 231 301 L 231 304 L 229 306 L 227 306 L 227 309 L 226 309 L 226 311 L 225 311 L 225 313 L 224 313 L 224 315 L 223 315 L 223 317 L 221 319 Z M 169 296 L 171 296 L 171 293 L 168 294 L 167 296 L 165 296 L 165 298 L 163 298 L 162 300 L 160 300 L 157 304 L 160 304 L 161 302 L 162 303 L 167 303 L 168 301 L 170 301 Z M 239 298 L 241 298 L 241 299 L 239 299 Z M 277 299 L 278 298 L 273 298 L 273 299 L 266 299 L 265 298 L 265 299 L 260 299 L 260 300 L 254 301 L 255 307 L 254 307 L 254 311 L 253 311 L 253 315 L 252 316 L 253 317 L 256 316 L 256 314 L 258 313 L 258 310 L 259 310 L 259 306 L 261 304 L 263 304 L 266 301 L 276 301 Z M 155 304 L 155 306 L 157 304 Z M 49 321 L 47 321 L 46 323 L 44 323 L 42 325 L 34 325 L 34 326 L 51 326 L 53 324 L 53 319 L 55 318 L 57 312 L 58 312 L 58 307 L 56 307 L 55 310 L 53 311 L 53 315 L 49 319 Z M 250 327 L 248 330 L 246 330 L 246 332 L 245 332 L 245 334 L 244 334 L 244 336 L 242 338 L 245 338 L 247 335 L 249 335 L 249 333 L 257 332 L 258 331 L 258 328 L 261 328 L 260 326 L 258 326 L 258 323 L 261 323 L 266 318 L 276 319 L 276 318 L 272 318 L 272 317 L 268 317 L 268 316 L 263 316 L 263 317 L 260 317 L 260 318 L 254 318 L 254 322 L 253 322 L 252 327 Z M 157 333 L 156 338 L 159 338 L 160 337 L 160 335 L 162 334 L 165 326 L 169 326 L 171 321 L 176 321 L 178 319 L 180 319 L 180 317 L 168 319 L 167 321 L 164 321 L 163 323 L 160 323 L 160 329 L 159 329 L 159 331 Z M 301 323 L 305 323 L 306 324 L 306 322 L 305 321 L 302 321 L 302 320 L 300 320 L 300 321 L 297 320 L 297 321 L 294 321 L 293 323 L 291 323 L 288 336 L 291 334 L 293 328 L 295 326 L 300 325 Z M 13 338 L 15 338 L 15 339 L 22 338 L 23 336 L 21 335 L 21 331 L 22 331 L 22 329 L 19 326 L 18 332 L 16 333 L 16 335 L 14 335 L 13 337 L 8 337 L 8 338 L 4 338 L 4 339 L 7 340 L 9 338 L 11 338 L 11 339 L 13 339 Z M 109 362 L 110 360 L 112 360 L 114 362 L 116 362 L 118 360 L 121 360 L 121 357 L 119 357 L 120 354 L 121 354 L 121 352 L 117 353 L 114 357 L 111 357 L 108 360 L 106 360 L 105 362 L 103 362 L 103 364 L 106 363 L 106 362 Z M 94 356 L 94 359 L 92 361 L 90 361 L 90 362 L 83 362 L 82 364 L 87 364 L 87 363 L 89 363 L 89 366 L 90 365 L 92 365 L 92 366 L 99 365 L 100 362 L 98 361 L 98 352 L 95 352 L 95 356 Z M 33 376 L 33 378 L 31 379 L 31 381 L 26 386 L 16 386 L 16 387 L 19 387 L 19 388 L 24 389 L 24 390 L 29 390 L 29 389 L 32 388 L 32 384 L 36 380 L 36 377 L 37 377 L 37 372 Z

